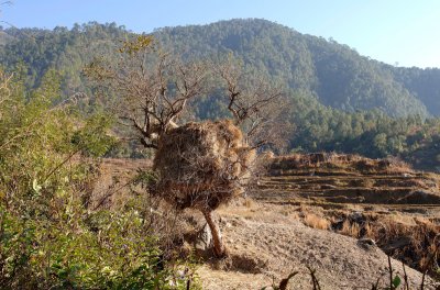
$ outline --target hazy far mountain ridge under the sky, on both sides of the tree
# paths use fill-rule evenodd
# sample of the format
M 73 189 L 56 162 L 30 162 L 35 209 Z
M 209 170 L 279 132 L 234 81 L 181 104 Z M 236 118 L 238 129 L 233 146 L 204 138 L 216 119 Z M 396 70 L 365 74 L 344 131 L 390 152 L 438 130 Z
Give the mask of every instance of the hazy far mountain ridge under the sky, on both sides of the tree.
M 130 35 L 122 26 L 89 23 L 72 30 L 0 31 L 0 62 L 29 67 L 29 86 L 55 67 L 65 71 L 64 91 L 85 89 L 79 71 L 94 55 L 116 54 Z M 154 32 L 168 49 L 184 57 L 233 53 L 246 66 L 285 82 L 294 91 L 345 111 L 377 108 L 389 115 L 440 115 L 438 69 L 395 68 L 359 55 L 346 45 L 305 35 L 258 19 L 208 25 L 164 27 Z M 429 110 L 427 110 L 427 107 Z

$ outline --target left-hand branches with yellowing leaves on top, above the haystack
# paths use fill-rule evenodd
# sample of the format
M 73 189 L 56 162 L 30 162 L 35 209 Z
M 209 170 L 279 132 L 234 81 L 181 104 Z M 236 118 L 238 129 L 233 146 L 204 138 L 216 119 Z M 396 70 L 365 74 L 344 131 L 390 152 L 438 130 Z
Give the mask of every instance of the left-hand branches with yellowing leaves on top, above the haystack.
M 85 72 L 117 92 L 119 119 L 139 134 L 147 148 L 157 148 L 158 136 L 170 127 L 188 101 L 206 90 L 206 65 L 183 63 L 156 46 L 151 36 L 139 36 L 120 48 L 116 65 L 96 59 Z

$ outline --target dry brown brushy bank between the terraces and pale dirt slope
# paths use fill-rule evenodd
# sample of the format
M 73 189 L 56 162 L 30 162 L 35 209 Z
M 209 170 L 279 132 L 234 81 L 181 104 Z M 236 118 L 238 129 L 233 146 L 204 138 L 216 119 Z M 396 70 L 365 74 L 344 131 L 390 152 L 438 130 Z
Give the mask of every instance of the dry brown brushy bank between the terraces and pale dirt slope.
M 438 277 L 440 225 L 427 217 L 374 211 L 323 210 L 300 205 L 297 215 L 304 224 L 342 235 L 372 241 L 387 255 L 409 267 Z M 294 215 L 290 215 L 294 216 Z

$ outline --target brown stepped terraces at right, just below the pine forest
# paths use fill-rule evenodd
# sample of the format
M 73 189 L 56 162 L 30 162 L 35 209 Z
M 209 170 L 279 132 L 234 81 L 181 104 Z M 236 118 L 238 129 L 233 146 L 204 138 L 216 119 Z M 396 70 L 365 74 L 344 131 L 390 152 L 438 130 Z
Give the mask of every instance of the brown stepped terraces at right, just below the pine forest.
M 391 163 L 381 167 L 382 160 L 362 157 L 341 161 L 339 156 L 323 163 L 306 163 L 305 159 L 314 159 L 310 155 L 283 158 L 286 157 L 276 158 L 270 175 L 258 181 L 258 190 L 252 194 L 255 200 L 327 208 L 384 205 L 420 213 L 440 209 L 440 176 L 436 174 L 417 172 Z M 360 163 L 370 163 L 370 167 L 361 167 Z

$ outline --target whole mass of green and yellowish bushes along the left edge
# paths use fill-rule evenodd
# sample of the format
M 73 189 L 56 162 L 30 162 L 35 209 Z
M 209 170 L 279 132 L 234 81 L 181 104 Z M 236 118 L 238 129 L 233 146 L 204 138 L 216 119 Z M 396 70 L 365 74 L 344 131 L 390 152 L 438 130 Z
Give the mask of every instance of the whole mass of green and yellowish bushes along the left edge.
M 56 78 L 29 93 L 0 72 L 0 289 L 196 288 L 133 207 L 88 210 L 110 122 L 58 100 Z

